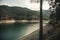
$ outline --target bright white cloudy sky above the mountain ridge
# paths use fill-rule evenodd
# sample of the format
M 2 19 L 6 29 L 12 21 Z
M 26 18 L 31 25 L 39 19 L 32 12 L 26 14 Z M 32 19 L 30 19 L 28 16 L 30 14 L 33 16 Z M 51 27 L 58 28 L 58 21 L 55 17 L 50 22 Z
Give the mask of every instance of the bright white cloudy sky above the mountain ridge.
M 40 10 L 40 3 L 31 3 L 30 0 L 1 0 L 0 5 L 27 7 L 31 10 Z M 43 9 L 48 10 L 48 2 L 43 2 Z

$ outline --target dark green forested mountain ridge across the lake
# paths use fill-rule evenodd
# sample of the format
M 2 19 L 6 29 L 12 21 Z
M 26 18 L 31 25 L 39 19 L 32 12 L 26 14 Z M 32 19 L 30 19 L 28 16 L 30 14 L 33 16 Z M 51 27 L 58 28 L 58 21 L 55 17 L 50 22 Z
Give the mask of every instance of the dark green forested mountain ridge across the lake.
M 0 5 L 0 20 L 38 20 L 39 11 L 22 7 Z M 49 19 L 49 11 L 43 10 L 43 19 Z

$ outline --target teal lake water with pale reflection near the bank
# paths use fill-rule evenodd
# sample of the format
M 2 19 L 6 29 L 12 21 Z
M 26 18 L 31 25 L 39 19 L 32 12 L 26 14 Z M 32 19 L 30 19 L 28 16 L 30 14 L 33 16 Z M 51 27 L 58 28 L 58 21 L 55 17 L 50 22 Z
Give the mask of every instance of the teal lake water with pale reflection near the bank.
M 16 40 L 39 29 L 39 23 L 0 24 L 0 40 Z

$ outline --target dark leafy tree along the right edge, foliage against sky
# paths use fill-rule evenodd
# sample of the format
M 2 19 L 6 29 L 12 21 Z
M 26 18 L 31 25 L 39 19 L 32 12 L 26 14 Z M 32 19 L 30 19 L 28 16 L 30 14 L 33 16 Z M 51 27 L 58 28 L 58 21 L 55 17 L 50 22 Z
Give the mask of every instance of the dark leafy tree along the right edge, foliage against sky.
M 49 2 L 51 9 L 50 19 L 55 24 L 54 27 L 58 27 L 58 21 L 60 20 L 60 0 L 50 0 Z

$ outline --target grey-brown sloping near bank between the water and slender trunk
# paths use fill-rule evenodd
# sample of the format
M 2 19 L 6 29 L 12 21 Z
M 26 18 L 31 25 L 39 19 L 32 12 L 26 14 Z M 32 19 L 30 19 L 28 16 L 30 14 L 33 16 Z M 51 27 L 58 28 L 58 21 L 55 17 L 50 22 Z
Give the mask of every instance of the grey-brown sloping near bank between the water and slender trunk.
M 46 25 L 46 24 L 43 24 L 43 26 L 45 26 L 45 25 Z M 44 34 L 45 34 L 45 32 L 44 32 Z M 39 28 L 36 29 L 36 30 L 34 30 L 33 32 L 27 34 L 27 35 L 24 35 L 24 36 L 22 36 L 22 37 L 17 38 L 17 40 L 27 40 L 27 38 L 29 38 L 30 36 L 35 36 L 35 35 L 37 36 L 36 38 L 38 38 Z M 33 38 L 33 37 L 31 37 L 31 38 Z M 29 38 L 28 40 L 30 40 L 31 38 Z

